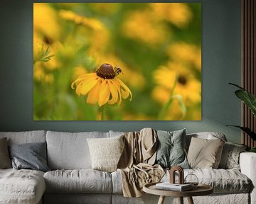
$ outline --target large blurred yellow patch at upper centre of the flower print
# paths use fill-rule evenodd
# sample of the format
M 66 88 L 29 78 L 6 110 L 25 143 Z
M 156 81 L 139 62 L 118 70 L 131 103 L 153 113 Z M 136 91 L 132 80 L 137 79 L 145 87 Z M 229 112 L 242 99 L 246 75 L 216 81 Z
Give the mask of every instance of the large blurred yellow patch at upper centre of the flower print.
M 128 38 L 146 42 L 149 45 L 164 42 L 166 37 L 170 35 L 170 31 L 167 32 L 164 23 L 156 21 L 149 10 L 129 13 L 123 23 L 122 33 Z

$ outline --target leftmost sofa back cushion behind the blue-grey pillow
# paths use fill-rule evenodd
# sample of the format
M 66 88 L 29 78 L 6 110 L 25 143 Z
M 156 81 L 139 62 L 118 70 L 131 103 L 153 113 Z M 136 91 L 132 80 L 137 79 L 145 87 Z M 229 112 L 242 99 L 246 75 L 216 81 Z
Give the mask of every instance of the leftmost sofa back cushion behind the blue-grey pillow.
M 46 142 L 45 130 L 31 130 L 24 132 L 0 132 L 0 138 L 7 137 L 8 145 L 30 142 Z

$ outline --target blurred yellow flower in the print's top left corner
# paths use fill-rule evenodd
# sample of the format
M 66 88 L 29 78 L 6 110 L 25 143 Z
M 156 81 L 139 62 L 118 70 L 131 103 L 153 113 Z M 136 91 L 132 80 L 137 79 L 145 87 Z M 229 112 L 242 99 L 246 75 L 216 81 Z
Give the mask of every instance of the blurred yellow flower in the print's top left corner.
M 55 10 L 47 3 L 33 3 L 33 33 L 41 35 L 44 41 L 57 40 L 60 24 Z

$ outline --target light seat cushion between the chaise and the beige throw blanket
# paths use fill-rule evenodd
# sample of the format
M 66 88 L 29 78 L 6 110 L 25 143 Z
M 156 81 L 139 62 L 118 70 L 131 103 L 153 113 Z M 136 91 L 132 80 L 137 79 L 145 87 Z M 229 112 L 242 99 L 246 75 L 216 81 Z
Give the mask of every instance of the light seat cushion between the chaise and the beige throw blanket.
M 111 174 L 92 169 L 55 170 L 43 175 L 47 193 L 111 193 Z

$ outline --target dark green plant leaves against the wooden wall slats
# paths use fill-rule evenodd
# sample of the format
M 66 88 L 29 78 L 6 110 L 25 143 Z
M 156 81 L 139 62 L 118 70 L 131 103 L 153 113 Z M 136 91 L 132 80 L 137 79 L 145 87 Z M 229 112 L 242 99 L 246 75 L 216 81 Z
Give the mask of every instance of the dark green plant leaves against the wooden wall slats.
M 235 91 L 235 95 L 238 96 L 238 98 L 240 98 L 240 100 L 242 100 L 245 103 L 245 105 L 250 108 L 250 110 L 252 111 L 252 114 L 256 117 L 256 96 L 249 93 L 248 91 L 246 91 L 241 86 L 238 86 L 237 84 L 232 84 L 232 83 L 229 83 L 229 84 L 239 88 L 237 91 Z M 239 125 L 227 125 L 227 126 L 240 128 L 243 132 L 249 135 L 252 138 L 252 140 L 256 140 L 256 132 L 253 132 L 252 130 L 250 130 L 250 128 L 242 127 Z M 250 152 L 256 152 L 256 147 L 252 147 L 250 149 Z

